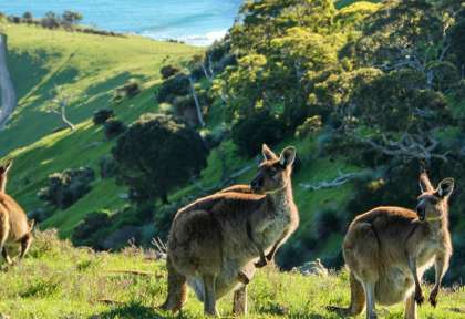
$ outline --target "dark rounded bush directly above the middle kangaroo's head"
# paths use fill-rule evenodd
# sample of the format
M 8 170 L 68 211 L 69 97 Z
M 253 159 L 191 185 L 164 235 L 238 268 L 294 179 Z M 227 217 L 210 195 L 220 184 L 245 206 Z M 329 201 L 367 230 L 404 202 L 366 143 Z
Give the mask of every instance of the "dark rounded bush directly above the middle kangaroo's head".
M 256 155 L 261 144 L 273 145 L 283 136 L 285 124 L 267 111 L 254 114 L 232 126 L 232 141 L 248 156 Z

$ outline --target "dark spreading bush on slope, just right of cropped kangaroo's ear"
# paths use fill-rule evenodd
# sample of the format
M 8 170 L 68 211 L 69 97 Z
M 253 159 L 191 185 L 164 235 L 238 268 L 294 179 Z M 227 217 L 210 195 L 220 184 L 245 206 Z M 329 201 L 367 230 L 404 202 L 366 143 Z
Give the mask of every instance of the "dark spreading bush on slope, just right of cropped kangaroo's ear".
M 48 186 L 39 191 L 39 198 L 60 208 L 66 209 L 91 191 L 94 171 L 90 167 L 65 169 L 49 176 Z

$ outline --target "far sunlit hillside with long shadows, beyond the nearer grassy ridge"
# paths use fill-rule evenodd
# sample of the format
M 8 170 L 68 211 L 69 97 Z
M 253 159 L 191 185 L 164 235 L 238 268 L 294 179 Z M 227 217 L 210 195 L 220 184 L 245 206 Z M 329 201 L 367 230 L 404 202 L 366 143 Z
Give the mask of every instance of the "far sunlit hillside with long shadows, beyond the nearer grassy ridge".
M 44 113 L 55 85 L 64 85 L 76 95 L 69 117 L 79 123 L 95 109 L 108 106 L 112 90 L 128 79 L 153 83 L 164 63 L 178 63 L 199 52 L 193 47 L 141 37 L 100 37 L 22 24 L 1 27 L 8 35 L 9 69 L 19 97 L 13 119 L 0 134 L 3 155 L 61 126 L 59 116 Z

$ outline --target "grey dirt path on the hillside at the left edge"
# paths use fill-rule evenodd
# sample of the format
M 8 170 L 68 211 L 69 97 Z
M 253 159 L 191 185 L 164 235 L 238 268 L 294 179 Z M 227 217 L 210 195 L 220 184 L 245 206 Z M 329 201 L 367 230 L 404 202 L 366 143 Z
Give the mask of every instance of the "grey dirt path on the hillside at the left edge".
M 0 34 L 0 131 L 3 130 L 4 124 L 18 105 L 13 81 L 11 80 L 10 72 L 8 71 L 7 54 L 7 35 Z

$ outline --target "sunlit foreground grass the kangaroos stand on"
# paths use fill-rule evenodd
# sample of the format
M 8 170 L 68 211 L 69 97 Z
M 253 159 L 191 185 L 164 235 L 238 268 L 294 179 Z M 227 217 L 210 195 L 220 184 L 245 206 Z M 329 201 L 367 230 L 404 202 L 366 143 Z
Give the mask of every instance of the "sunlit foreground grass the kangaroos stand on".
M 96 254 L 56 240 L 53 231 L 37 237 L 21 265 L 0 272 L 2 315 L 21 319 L 203 318 L 202 303 L 192 292 L 180 317 L 156 310 L 166 296 L 165 263 L 144 258 L 137 248 Z M 249 286 L 248 318 L 340 318 L 326 307 L 348 305 L 349 295 L 345 272 L 303 277 L 268 267 Z M 420 318 L 464 318 L 464 305 L 463 287 L 447 289 L 441 292 L 436 309 L 421 307 Z M 219 302 L 219 310 L 230 316 L 230 309 L 229 295 Z M 379 307 L 379 313 L 381 318 L 403 318 L 401 305 Z

